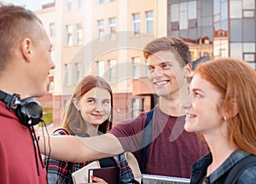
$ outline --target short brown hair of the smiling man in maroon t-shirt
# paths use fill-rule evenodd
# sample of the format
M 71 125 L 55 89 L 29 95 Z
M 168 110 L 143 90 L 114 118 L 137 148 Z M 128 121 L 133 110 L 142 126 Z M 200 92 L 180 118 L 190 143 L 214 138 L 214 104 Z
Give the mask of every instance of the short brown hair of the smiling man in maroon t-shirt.
M 191 53 L 189 51 L 189 45 L 178 37 L 159 37 L 146 44 L 143 49 L 143 54 L 146 59 L 149 55 L 154 55 L 162 50 L 172 51 L 179 61 L 180 66 L 185 66 L 191 63 Z

